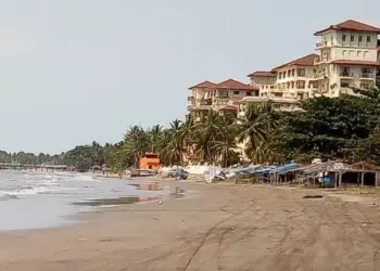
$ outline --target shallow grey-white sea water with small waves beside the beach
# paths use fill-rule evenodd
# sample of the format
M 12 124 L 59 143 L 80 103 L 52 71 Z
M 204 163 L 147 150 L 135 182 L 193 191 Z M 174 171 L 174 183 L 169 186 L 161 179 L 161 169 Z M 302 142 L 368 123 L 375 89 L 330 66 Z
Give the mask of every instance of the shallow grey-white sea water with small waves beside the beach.
M 163 193 L 140 190 L 134 180 L 91 173 L 0 171 L 0 231 L 68 225 L 79 222 L 80 212 Z

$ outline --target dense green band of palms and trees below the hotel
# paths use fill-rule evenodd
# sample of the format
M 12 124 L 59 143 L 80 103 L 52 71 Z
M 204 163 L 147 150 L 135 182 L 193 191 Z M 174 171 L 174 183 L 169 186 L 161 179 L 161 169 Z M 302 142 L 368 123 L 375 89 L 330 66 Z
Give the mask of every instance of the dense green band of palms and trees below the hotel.
M 312 158 L 380 162 L 380 92 L 355 90 L 360 96 L 307 100 L 303 111 L 280 113 L 270 104 L 249 106 L 245 117 L 208 112 L 202 121 L 174 120 L 167 128 L 130 127 L 116 144 L 76 146 L 60 155 L 0 152 L 1 163 L 66 164 L 80 169 L 106 165 L 117 170 L 137 166 L 145 152 L 164 165 L 182 165 L 195 156 L 229 166 L 240 162 L 238 145 L 254 164 L 281 164 Z

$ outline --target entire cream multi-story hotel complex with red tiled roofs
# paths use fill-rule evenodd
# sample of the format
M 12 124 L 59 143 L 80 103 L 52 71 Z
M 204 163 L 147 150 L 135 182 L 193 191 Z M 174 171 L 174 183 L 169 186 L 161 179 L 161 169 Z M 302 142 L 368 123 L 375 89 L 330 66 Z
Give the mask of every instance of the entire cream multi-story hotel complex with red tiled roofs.
M 188 109 L 195 120 L 205 112 L 244 114 L 248 103 L 271 102 L 279 111 L 297 111 L 312 96 L 354 94 L 353 87 L 380 87 L 380 28 L 353 20 L 315 33 L 319 54 L 308 54 L 269 72 L 254 72 L 250 85 L 232 79 L 190 88 Z

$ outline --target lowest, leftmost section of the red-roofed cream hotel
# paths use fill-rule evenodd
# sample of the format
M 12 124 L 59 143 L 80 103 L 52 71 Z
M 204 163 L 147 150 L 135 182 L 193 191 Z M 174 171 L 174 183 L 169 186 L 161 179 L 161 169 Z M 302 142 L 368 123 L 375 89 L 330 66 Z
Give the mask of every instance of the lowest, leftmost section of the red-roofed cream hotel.
M 233 79 L 219 83 L 204 81 L 189 89 L 192 95 L 188 98 L 188 109 L 195 121 L 200 121 L 208 111 L 236 115 L 242 98 L 258 96 L 256 87 Z

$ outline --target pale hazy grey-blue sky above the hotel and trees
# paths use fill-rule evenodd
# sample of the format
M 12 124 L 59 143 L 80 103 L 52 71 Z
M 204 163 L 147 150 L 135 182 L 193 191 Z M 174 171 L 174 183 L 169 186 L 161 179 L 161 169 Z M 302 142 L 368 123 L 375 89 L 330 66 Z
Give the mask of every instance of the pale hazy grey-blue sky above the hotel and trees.
M 379 0 L 0 0 L 0 150 L 60 153 L 183 119 L 189 87 L 315 52 Z

